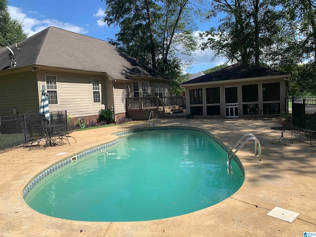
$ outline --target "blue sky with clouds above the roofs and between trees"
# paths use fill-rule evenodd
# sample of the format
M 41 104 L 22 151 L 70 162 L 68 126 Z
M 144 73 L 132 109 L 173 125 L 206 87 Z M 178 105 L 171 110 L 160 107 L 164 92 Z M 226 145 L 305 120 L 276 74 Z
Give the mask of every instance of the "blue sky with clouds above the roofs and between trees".
M 22 21 L 28 37 L 48 26 L 101 40 L 114 39 L 119 30 L 102 22 L 105 2 L 101 0 L 8 0 L 8 10 L 11 18 Z M 210 29 L 217 21 L 198 23 L 199 31 Z M 212 60 L 211 51 L 197 50 L 195 53 L 195 62 L 191 68 L 184 69 L 187 73 L 204 71 L 225 62 L 223 58 Z

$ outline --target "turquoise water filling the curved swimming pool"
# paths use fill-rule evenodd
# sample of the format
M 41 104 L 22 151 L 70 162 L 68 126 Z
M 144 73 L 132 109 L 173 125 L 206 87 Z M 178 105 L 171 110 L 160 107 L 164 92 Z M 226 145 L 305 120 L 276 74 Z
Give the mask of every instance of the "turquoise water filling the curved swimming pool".
M 46 177 L 26 202 L 36 211 L 81 221 L 144 221 L 214 205 L 243 183 L 235 161 L 192 130 L 150 130 L 119 137 L 110 150 Z

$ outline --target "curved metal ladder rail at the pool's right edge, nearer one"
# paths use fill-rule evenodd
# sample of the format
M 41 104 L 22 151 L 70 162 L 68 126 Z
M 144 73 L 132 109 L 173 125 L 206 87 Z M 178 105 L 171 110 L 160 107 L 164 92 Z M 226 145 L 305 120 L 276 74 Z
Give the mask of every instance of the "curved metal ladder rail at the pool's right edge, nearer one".
M 245 138 L 245 139 L 244 139 Z M 229 168 L 229 172 L 231 173 L 232 171 L 232 158 L 236 155 L 236 153 L 246 144 L 247 141 L 254 140 L 255 141 L 255 155 L 254 157 L 258 157 L 258 163 L 263 163 L 261 160 L 261 145 L 260 141 L 256 138 L 255 135 L 251 133 L 247 133 L 243 135 L 237 143 L 229 150 L 227 153 L 227 167 Z M 236 148 L 235 152 L 233 150 Z M 232 155 L 230 155 L 233 152 Z

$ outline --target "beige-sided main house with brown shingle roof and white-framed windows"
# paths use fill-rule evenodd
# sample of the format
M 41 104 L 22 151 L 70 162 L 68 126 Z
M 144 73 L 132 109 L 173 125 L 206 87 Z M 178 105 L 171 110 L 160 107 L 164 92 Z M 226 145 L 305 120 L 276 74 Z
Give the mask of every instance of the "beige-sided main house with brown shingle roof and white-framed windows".
M 50 26 L 0 48 L 0 116 L 39 111 L 44 85 L 50 111 L 90 120 L 113 108 L 117 120 L 126 97 L 168 96 L 168 81 L 107 41 Z

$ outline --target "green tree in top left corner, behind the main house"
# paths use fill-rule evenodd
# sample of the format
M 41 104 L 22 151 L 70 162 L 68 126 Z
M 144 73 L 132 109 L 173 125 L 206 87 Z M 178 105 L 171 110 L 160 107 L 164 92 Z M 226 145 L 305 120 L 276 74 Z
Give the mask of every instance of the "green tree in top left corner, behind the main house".
M 18 20 L 10 18 L 7 0 L 0 0 L 0 46 L 11 45 L 25 40 L 27 34 Z

